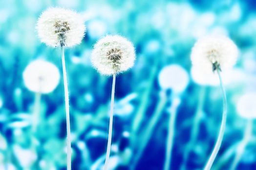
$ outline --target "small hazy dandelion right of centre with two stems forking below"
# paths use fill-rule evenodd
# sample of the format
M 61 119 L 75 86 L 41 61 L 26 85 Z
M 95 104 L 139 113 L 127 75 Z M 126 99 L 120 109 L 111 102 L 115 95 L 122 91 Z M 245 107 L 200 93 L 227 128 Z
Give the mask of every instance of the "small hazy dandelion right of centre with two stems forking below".
M 133 168 L 136 167 L 141 155 L 143 154 L 150 137 L 156 127 L 163 110 L 168 102 L 167 90 L 172 90 L 171 94 L 171 106 L 168 109 L 170 112 L 170 119 L 168 125 L 168 136 L 166 141 L 166 158 L 164 170 L 169 170 L 171 165 L 171 150 L 173 146 L 173 137 L 174 137 L 174 128 L 175 128 L 175 118 L 177 108 L 180 104 L 180 94 L 186 89 L 189 83 L 189 76 L 187 71 L 180 67 L 179 65 L 169 65 L 164 67 L 159 75 L 158 75 L 158 84 L 161 87 L 161 91 L 159 93 L 159 102 L 156 105 L 155 111 L 153 113 L 152 118 L 149 120 L 147 124 L 144 135 L 143 142 L 140 144 L 137 154 L 134 156 Z

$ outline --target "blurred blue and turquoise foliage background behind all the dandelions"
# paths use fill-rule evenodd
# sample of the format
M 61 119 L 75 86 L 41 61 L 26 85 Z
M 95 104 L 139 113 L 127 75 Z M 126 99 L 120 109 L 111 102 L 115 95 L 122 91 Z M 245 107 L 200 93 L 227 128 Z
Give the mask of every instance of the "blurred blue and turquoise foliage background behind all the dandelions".
M 226 34 L 240 50 L 225 85 L 228 121 L 213 170 L 226 170 L 242 140 L 247 120 L 236 114 L 236 103 L 256 87 L 256 2 L 254 0 L 1 0 L 0 1 L 0 169 L 64 170 L 64 88 L 43 95 L 36 131 L 31 129 L 35 94 L 22 82 L 22 72 L 36 58 L 61 70 L 61 51 L 46 47 L 35 31 L 37 18 L 50 6 L 82 13 L 86 35 L 81 45 L 66 50 L 72 132 L 72 169 L 99 170 L 105 161 L 111 78 L 90 63 L 93 44 L 106 34 L 121 34 L 135 47 L 135 66 L 116 82 L 113 170 L 160 170 L 164 165 L 172 91 L 163 91 L 161 68 L 182 66 L 190 75 L 190 52 L 206 34 Z M 168 79 L 168 78 L 167 78 Z M 171 80 L 170 80 L 171 81 Z M 62 81 L 61 81 L 62 82 Z M 221 119 L 218 86 L 201 86 L 190 78 L 179 94 L 171 169 L 202 169 L 210 155 Z M 163 101 L 164 100 L 164 101 Z M 147 127 L 156 112 L 147 141 Z M 150 128 L 149 128 L 150 129 Z M 255 128 L 238 163 L 256 169 Z M 145 138 L 146 137 L 146 138 Z M 142 146 L 145 146 L 143 148 Z M 141 152 L 141 154 L 138 154 Z

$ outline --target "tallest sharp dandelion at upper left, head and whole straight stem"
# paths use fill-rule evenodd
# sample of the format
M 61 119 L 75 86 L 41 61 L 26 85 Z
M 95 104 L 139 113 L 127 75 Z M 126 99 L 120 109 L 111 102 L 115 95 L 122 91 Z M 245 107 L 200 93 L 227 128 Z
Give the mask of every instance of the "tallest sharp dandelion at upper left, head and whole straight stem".
M 67 170 L 71 170 L 71 139 L 69 120 L 69 99 L 65 67 L 64 47 L 73 47 L 81 43 L 85 35 L 85 24 L 82 17 L 72 10 L 48 8 L 37 22 L 39 38 L 51 47 L 61 47 L 64 80 L 64 96 L 67 127 Z

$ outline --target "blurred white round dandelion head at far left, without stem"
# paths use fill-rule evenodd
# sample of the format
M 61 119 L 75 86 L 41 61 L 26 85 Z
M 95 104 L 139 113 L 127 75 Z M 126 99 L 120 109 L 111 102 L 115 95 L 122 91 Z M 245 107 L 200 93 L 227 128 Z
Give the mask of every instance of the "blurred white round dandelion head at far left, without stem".
M 52 63 L 35 60 L 25 68 L 23 80 L 25 86 L 33 92 L 50 93 L 60 82 L 60 72 Z

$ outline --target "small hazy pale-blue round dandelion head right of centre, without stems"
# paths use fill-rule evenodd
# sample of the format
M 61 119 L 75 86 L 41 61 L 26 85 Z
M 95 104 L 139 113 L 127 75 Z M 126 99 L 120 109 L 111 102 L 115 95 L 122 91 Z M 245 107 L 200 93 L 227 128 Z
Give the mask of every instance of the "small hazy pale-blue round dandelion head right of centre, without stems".
M 158 75 L 158 83 L 162 89 L 172 89 L 176 93 L 185 90 L 189 83 L 187 71 L 179 65 L 164 67 Z

